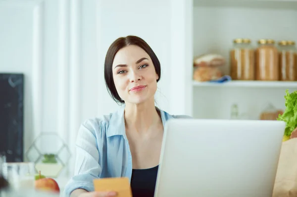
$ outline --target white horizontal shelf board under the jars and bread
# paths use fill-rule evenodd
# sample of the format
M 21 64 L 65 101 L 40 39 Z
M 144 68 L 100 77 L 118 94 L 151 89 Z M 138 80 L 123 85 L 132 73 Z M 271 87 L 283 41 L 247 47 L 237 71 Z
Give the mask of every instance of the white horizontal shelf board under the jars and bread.
M 297 88 L 297 81 L 241 81 L 233 80 L 224 83 L 193 81 L 194 87 L 264 87 L 264 88 Z

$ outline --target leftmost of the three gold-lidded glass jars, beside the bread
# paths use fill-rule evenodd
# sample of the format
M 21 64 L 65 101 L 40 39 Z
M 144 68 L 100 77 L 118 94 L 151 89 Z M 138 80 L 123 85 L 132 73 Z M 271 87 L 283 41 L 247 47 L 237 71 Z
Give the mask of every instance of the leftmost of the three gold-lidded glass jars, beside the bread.
M 250 39 L 238 38 L 233 43 L 230 51 L 231 78 L 233 80 L 254 80 L 254 49 Z

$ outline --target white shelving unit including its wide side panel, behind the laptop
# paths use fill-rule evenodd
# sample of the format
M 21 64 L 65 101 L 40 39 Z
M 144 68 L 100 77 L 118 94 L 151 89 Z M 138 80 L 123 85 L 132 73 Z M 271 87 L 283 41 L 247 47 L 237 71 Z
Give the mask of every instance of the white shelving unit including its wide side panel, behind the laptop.
M 177 15 L 174 9 L 178 4 L 172 6 Z M 172 41 L 172 47 L 178 49 L 172 52 L 172 76 L 176 81 L 172 81 L 174 98 L 170 99 L 185 110 L 177 113 L 229 119 L 231 106 L 238 104 L 240 113 L 258 119 L 269 103 L 285 109 L 285 90 L 297 90 L 297 82 L 196 82 L 193 58 L 207 53 L 223 55 L 227 64 L 222 71 L 229 74 L 229 51 L 235 38 L 249 38 L 254 47 L 259 39 L 297 41 L 297 0 L 185 0 L 179 6 L 179 18 L 172 14 L 171 19 L 175 25 L 171 37 L 179 35 L 179 39 Z

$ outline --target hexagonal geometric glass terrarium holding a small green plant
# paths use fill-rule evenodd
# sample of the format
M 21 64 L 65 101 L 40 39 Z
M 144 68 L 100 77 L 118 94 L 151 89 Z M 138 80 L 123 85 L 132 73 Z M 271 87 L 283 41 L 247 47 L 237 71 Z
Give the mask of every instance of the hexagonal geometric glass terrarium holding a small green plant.
M 56 132 L 42 132 L 29 147 L 26 157 L 35 163 L 37 172 L 46 177 L 58 177 L 71 157 L 64 140 Z

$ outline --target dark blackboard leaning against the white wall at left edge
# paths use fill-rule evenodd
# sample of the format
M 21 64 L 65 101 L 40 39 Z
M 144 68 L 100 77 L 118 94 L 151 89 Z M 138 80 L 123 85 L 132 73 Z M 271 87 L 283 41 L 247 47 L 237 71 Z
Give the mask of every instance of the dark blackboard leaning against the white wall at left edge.
M 24 74 L 0 73 L 0 154 L 23 161 Z

